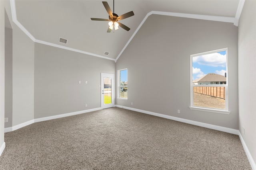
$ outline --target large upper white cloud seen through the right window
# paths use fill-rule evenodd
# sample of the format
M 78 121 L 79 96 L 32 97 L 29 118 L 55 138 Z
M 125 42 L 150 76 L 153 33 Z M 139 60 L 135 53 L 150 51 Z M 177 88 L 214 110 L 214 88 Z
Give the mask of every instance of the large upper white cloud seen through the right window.
M 226 55 L 220 53 L 211 53 L 193 57 L 193 63 L 207 65 L 207 66 L 222 66 L 226 67 Z

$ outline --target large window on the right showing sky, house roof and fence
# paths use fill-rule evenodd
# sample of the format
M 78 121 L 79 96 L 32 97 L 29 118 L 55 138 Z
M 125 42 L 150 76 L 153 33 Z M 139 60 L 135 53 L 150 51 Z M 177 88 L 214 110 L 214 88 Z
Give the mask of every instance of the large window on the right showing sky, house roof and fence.
M 228 112 L 228 49 L 191 55 L 190 109 Z

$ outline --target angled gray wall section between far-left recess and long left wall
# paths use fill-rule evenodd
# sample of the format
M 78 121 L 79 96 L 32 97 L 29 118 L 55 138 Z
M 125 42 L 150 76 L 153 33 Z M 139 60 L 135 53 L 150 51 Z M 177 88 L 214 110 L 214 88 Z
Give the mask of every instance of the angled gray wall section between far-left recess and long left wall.
M 34 41 L 12 27 L 12 126 L 34 119 Z

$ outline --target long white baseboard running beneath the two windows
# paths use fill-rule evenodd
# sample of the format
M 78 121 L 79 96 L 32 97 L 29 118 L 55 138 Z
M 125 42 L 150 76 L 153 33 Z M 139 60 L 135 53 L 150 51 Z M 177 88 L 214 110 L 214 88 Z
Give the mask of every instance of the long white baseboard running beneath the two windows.
M 149 114 L 149 115 L 163 117 L 163 118 L 166 118 L 166 119 L 180 121 L 180 122 L 183 122 L 183 123 L 188 123 L 188 124 L 192 124 L 192 125 L 196 125 L 196 126 L 200 126 L 200 127 L 206 127 L 206 128 L 209 128 L 209 129 L 214 129 L 214 130 L 218 130 L 218 131 L 222 131 L 222 132 L 232 133 L 232 134 L 235 134 L 235 135 L 239 134 L 238 130 L 231 129 L 231 128 L 228 128 L 228 127 L 211 125 L 211 124 L 208 124 L 208 123 L 202 123 L 202 122 L 199 122 L 199 121 L 193 121 L 193 120 L 183 119 L 183 118 L 180 118 L 180 117 L 164 115 L 164 114 L 155 113 L 155 112 L 152 112 L 152 111 L 135 109 L 135 108 L 132 108 L 132 107 L 125 107 L 125 106 L 120 106 L 120 105 L 115 105 L 115 107 L 120 107 L 120 108 L 124 108 L 124 109 L 128 109 L 128 110 L 132 110 L 132 111 L 138 111 L 138 112 L 146 113 L 146 114 Z

